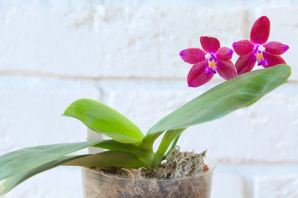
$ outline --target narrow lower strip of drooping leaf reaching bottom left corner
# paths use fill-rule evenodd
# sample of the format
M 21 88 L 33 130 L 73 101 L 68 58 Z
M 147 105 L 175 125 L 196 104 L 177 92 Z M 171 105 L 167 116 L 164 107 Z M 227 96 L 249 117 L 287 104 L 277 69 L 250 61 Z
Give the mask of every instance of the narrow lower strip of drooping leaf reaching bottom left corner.
M 5 195 L 8 193 L 11 189 L 19 185 L 20 183 L 24 182 L 25 180 L 29 179 L 30 177 L 33 177 L 34 175 L 37 175 L 39 173 L 42 173 L 44 171 L 47 171 L 49 169 L 55 168 L 61 164 L 64 164 L 70 160 L 73 160 L 75 158 L 84 157 L 85 155 L 77 155 L 77 156 L 64 156 L 59 159 L 56 159 L 54 161 L 51 161 L 50 163 L 43 164 L 41 166 L 38 166 L 34 169 L 31 169 L 29 171 L 23 172 L 19 175 L 15 175 L 12 177 L 8 177 L 0 186 L 0 196 Z

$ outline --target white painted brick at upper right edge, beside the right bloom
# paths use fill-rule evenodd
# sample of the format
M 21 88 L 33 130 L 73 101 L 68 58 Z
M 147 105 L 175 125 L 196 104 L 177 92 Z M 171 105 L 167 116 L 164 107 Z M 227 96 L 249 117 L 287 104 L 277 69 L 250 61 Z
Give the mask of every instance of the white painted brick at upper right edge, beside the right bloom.
M 271 32 L 268 41 L 278 41 L 290 46 L 290 49 L 283 54 L 287 64 L 292 67 L 292 76 L 290 79 L 298 80 L 298 6 L 287 7 L 259 7 L 256 10 L 255 19 L 266 15 L 271 21 Z

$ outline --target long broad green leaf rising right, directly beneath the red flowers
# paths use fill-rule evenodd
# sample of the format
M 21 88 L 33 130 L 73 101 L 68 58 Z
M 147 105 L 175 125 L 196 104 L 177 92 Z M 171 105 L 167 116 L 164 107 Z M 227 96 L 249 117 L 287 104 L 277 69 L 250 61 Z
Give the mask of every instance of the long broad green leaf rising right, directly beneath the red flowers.
M 251 105 L 286 83 L 290 75 L 291 68 L 282 64 L 251 71 L 225 81 L 158 121 L 149 129 L 140 147 L 147 148 L 164 131 L 211 121 Z

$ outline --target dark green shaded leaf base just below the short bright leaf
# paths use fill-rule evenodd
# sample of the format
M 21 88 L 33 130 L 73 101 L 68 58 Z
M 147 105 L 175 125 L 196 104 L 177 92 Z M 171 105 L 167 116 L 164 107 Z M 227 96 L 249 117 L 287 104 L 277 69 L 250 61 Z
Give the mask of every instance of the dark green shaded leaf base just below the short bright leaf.
M 124 143 L 117 142 L 115 140 L 104 140 L 98 143 L 97 145 L 94 145 L 93 147 L 129 152 L 134 154 L 141 161 L 147 164 L 150 164 L 154 157 L 154 153 L 152 149 L 144 150 L 133 144 L 124 144 Z

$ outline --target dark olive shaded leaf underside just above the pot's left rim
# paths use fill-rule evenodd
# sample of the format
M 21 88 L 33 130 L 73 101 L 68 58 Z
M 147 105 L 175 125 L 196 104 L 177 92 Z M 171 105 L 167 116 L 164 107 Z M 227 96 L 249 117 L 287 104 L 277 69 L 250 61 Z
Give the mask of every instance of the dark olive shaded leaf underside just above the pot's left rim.
M 105 166 L 118 166 L 126 168 L 141 168 L 145 167 L 150 169 L 150 166 L 135 155 L 124 152 L 124 151 L 114 151 L 108 150 L 105 152 L 100 152 L 97 154 L 88 155 L 82 158 L 74 159 L 63 165 L 66 166 L 95 166 L 95 167 L 105 167 Z

